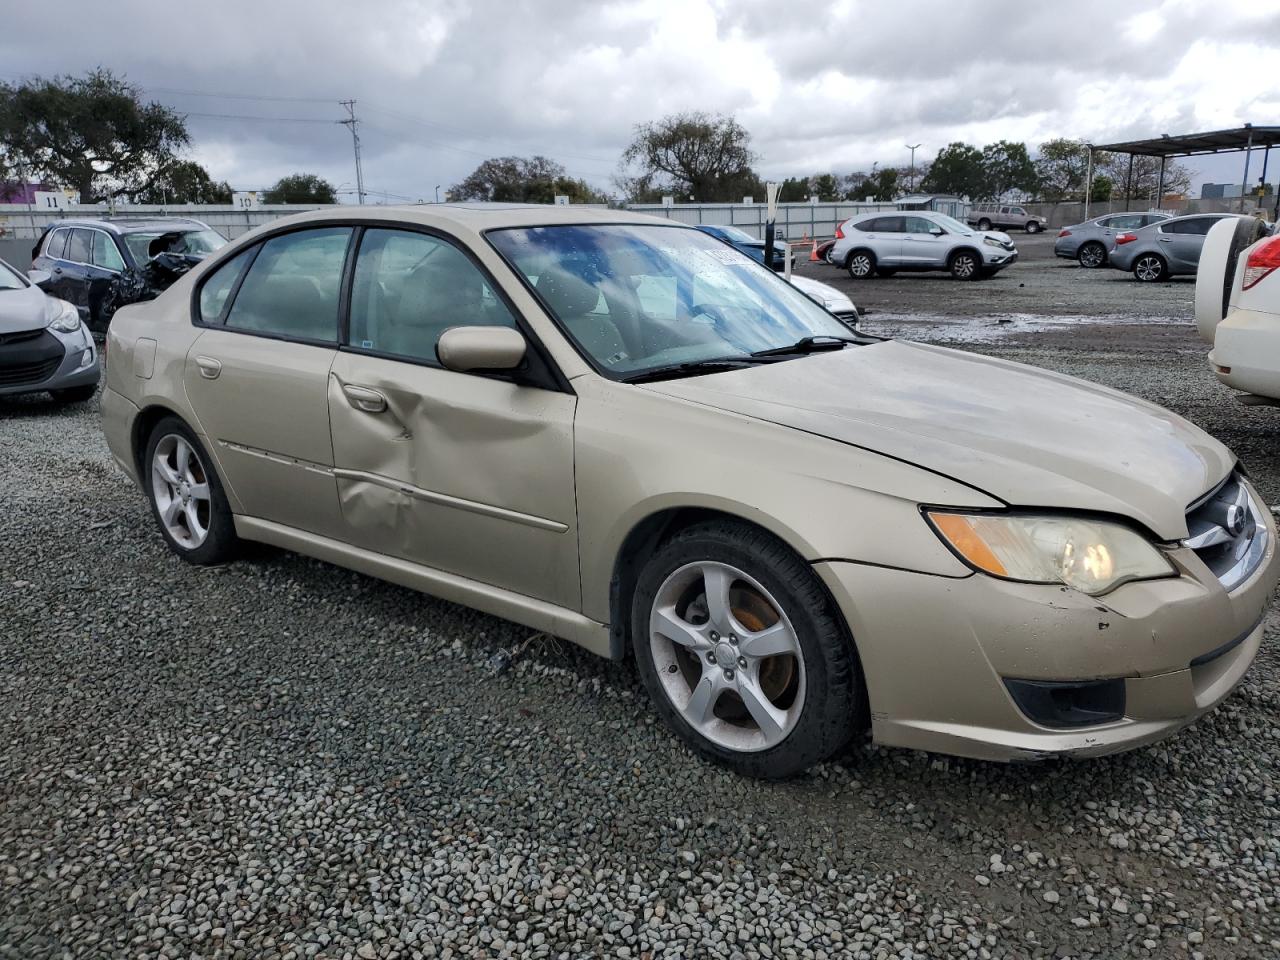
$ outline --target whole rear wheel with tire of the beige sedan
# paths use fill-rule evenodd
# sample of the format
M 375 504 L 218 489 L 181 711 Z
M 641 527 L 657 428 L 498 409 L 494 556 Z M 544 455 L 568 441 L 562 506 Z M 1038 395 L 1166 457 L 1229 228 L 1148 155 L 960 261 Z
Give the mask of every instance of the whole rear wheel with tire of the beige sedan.
M 186 458 L 180 453 L 183 445 Z M 161 475 L 157 456 L 165 461 L 173 480 Z M 169 549 L 197 566 L 225 563 L 238 553 L 239 539 L 221 480 L 209 453 L 182 420 L 165 417 L 156 424 L 147 438 L 141 467 L 151 515 Z M 157 480 L 164 489 L 157 488 Z

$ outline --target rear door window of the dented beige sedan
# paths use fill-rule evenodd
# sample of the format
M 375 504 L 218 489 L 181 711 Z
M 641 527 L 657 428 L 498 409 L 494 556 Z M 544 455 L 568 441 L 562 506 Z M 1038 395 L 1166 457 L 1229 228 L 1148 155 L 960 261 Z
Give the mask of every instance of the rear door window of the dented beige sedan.
M 351 229 L 273 237 L 244 276 L 227 326 L 300 340 L 338 340 L 338 301 Z

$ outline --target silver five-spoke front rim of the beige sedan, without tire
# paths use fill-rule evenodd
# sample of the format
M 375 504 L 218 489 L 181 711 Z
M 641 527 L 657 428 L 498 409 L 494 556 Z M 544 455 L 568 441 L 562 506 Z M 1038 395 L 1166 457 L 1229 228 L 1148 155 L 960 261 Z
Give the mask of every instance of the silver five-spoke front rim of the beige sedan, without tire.
M 800 640 L 772 594 L 737 567 L 704 561 L 671 573 L 654 596 L 649 644 L 667 699 L 717 746 L 768 750 L 800 719 Z

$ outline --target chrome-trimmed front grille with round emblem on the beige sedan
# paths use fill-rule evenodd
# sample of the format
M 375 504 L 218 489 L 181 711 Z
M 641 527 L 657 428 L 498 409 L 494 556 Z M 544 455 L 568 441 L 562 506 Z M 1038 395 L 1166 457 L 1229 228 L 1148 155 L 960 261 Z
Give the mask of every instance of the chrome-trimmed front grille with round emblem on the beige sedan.
M 1262 508 L 1236 474 L 1192 504 L 1187 532 L 1183 543 L 1228 590 L 1249 579 L 1267 549 Z

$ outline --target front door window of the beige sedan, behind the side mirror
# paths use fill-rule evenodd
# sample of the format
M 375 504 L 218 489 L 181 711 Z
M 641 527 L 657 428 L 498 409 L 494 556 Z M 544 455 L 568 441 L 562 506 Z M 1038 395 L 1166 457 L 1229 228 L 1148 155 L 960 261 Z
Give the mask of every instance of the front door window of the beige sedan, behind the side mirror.
M 411 230 L 365 230 L 351 289 L 348 344 L 436 364 L 435 343 L 451 326 L 515 328 L 516 321 L 452 243 Z

